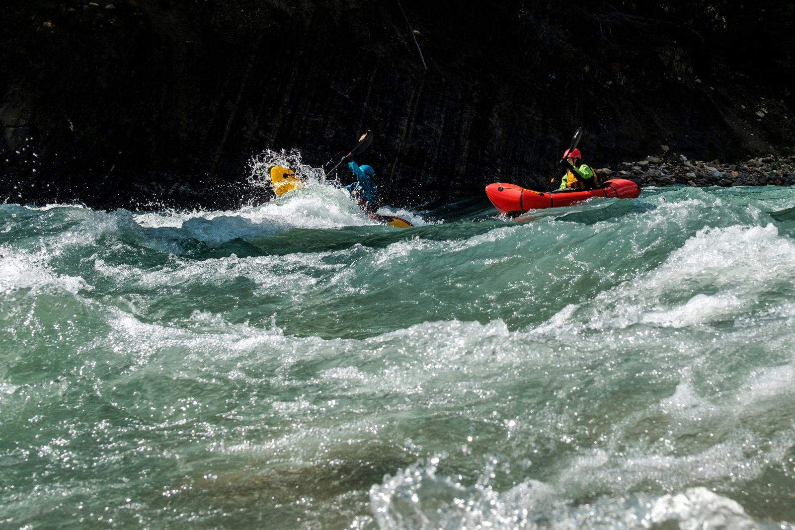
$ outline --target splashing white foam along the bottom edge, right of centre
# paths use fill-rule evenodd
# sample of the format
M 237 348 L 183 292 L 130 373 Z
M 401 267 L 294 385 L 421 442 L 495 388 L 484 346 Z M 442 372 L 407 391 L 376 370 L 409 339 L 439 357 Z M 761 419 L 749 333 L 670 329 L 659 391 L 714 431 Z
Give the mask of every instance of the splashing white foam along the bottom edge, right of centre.
M 539 481 L 503 493 L 492 489 L 488 478 L 464 486 L 438 474 L 443 459 L 417 462 L 370 488 L 379 528 L 793 528 L 758 524 L 738 502 L 703 487 L 571 504 L 560 490 Z M 486 476 L 493 478 L 490 469 Z

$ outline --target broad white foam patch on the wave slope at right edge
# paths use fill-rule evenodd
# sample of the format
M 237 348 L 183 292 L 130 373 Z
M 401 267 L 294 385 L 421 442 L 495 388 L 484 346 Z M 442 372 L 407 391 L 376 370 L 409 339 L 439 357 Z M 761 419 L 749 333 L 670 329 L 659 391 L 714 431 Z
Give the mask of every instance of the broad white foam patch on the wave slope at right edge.
M 757 310 L 766 292 L 791 284 L 793 261 L 795 243 L 772 224 L 704 228 L 649 273 L 564 308 L 540 329 L 583 329 L 583 315 L 588 327 L 619 328 L 735 319 Z

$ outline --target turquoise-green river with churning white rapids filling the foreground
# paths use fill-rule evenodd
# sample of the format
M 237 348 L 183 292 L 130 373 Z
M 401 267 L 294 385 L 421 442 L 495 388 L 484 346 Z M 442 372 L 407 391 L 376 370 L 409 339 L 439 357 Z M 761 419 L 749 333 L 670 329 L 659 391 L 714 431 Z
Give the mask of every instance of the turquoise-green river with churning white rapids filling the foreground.
M 795 528 L 793 188 L 390 212 L 0 205 L 0 527 Z

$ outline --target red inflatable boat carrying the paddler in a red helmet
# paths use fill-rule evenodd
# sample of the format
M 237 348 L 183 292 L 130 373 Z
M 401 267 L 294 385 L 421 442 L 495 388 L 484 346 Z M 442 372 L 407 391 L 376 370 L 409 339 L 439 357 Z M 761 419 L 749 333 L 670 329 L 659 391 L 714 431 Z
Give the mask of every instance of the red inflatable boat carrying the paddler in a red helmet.
M 615 197 L 634 199 L 641 194 L 641 188 L 631 180 L 605 180 L 599 188 L 592 190 L 535 191 L 516 184 L 495 182 L 486 187 L 491 203 L 502 215 L 520 215 L 528 210 L 568 206 L 591 199 L 591 197 Z

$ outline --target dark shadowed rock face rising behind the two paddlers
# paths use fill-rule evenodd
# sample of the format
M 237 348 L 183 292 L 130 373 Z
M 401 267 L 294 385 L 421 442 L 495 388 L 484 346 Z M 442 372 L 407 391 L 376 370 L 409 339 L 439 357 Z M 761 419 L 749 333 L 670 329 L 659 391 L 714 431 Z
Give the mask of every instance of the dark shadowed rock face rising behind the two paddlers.
M 427 71 L 392 0 L 97 3 L 7 2 L 0 198 L 231 206 L 258 199 L 242 184 L 253 154 L 319 165 L 366 129 L 359 162 L 395 202 L 543 186 L 580 125 L 596 166 L 792 139 L 781 76 L 603 2 L 407 0 Z

